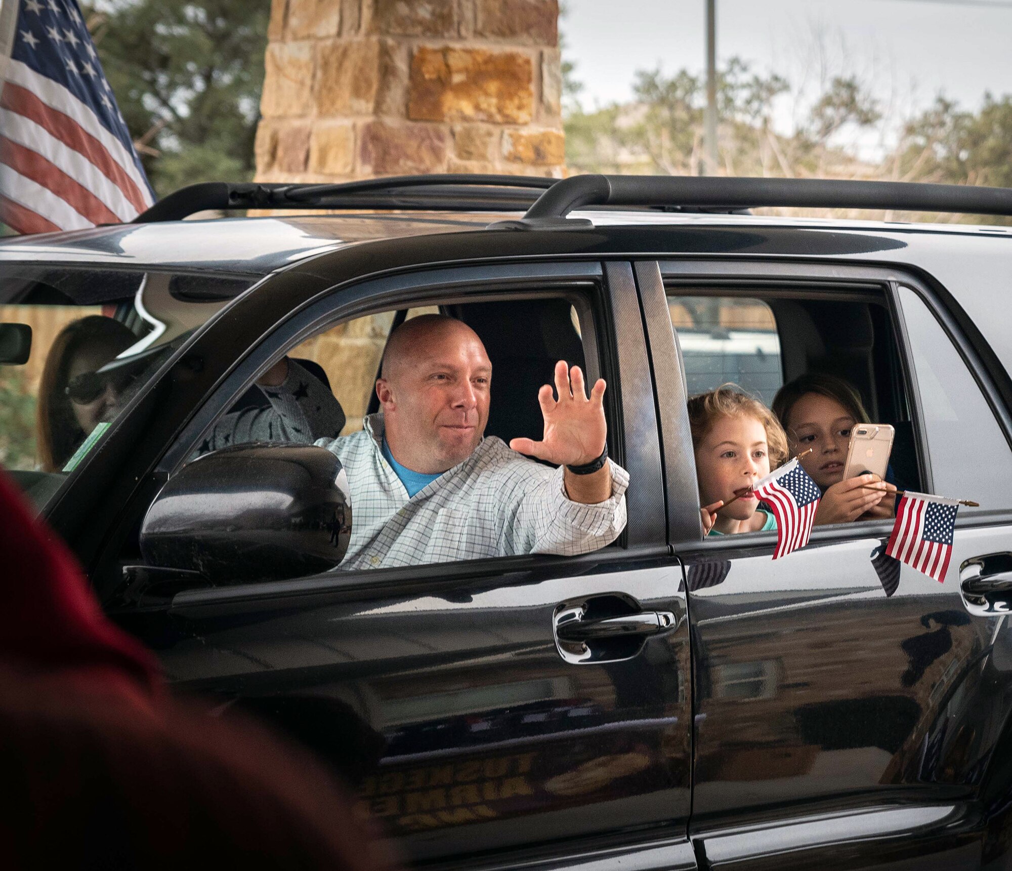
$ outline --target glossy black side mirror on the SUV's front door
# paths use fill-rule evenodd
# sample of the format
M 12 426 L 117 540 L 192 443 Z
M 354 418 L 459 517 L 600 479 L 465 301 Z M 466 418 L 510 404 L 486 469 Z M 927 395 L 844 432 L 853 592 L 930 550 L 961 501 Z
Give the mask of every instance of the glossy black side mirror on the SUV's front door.
M 282 580 L 336 567 L 351 539 L 351 491 L 325 448 L 251 444 L 173 475 L 141 527 L 149 566 L 215 585 Z

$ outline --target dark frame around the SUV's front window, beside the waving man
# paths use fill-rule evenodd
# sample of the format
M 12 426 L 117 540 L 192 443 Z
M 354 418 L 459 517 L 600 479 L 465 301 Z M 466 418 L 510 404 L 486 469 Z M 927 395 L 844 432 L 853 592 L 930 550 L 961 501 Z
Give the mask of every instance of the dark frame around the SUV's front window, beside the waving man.
M 532 287 L 535 285 L 536 287 Z M 491 302 L 496 299 L 515 300 L 524 296 L 559 298 L 579 295 L 581 292 L 587 301 L 590 316 L 587 325 L 591 327 L 586 329 L 583 326 L 584 315 L 581 313 L 587 368 L 591 369 L 590 361 L 594 360 L 596 369 L 599 361 L 600 375 L 609 381 L 613 390 L 613 401 L 605 401 L 609 451 L 613 445 L 617 455 L 616 462 L 626 469 L 630 469 L 630 465 L 636 469 L 646 467 L 647 472 L 641 477 L 656 483 L 656 493 L 652 496 L 655 503 L 647 511 L 641 511 L 643 520 L 637 526 L 635 534 L 627 528 L 618 540 L 618 547 L 575 557 L 517 555 L 390 569 L 324 572 L 282 581 L 187 589 L 175 593 L 169 602 L 142 601 L 137 607 L 168 607 L 173 611 L 185 608 L 201 612 L 225 608 L 231 612 L 236 603 L 246 602 L 247 608 L 259 610 L 261 607 L 277 607 L 278 602 L 291 598 L 302 600 L 306 596 L 371 598 L 389 596 L 395 589 L 417 589 L 418 584 L 434 590 L 446 585 L 455 589 L 468 581 L 480 586 L 482 578 L 489 575 L 515 574 L 518 582 L 531 573 L 577 576 L 593 571 L 594 566 L 602 563 L 627 562 L 651 554 L 667 556 L 666 516 L 660 483 L 661 451 L 656 418 L 653 417 L 653 383 L 648 368 L 647 343 L 639 306 L 637 305 L 634 313 L 632 307 L 627 304 L 629 299 L 636 297 L 637 289 L 631 266 L 624 261 L 461 265 L 418 269 L 334 285 L 274 324 L 271 330 L 248 348 L 243 359 L 220 380 L 201 407 L 180 430 L 178 438 L 165 451 L 157 464 L 156 473 L 164 477 L 181 468 L 194 447 L 199 444 L 202 433 L 214 425 L 232 402 L 242 395 L 283 349 L 293 347 L 341 321 L 435 302 Z M 588 295 L 592 293 L 597 293 L 599 299 L 590 299 Z M 624 339 L 620 341 L 618 335 L 623 335 Z M 596 377 L 596 373 L 590 374 Z M 628 397 L 635 399 L 626 410 L 625 400 Z M 636 419 L 629 419 L 637 410 L 631 406 L 643 405 L 646 401 L 650 403 L 647 419 L 640 413 L 642 409 L 635 415 Z M 635 439 L 630 438 L 632 433 L 636 434 Z M 639 493 L 632 493 L 632 499 L 645 501 L 645 494 L 651 497 L 649 486 L 640 490 Z M 627 505 L 629 502 L 630 496 L 627 494 Z M 140 510 L 143 514 L 147 505 L 140 506 Z M 629 514 L 634 514 L 631 506 Z

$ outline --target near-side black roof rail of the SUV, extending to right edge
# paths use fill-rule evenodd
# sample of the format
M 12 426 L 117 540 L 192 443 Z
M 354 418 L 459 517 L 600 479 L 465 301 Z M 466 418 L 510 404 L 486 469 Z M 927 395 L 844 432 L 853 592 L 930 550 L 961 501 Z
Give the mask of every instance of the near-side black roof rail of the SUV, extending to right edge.
M 553 184 L 519 221 L 499 221 L 491 226 L 579 229 L 591 222 L 567 216 L 588 206 L 714 212 L 785 206 L 1012 215 L 1012 188 L 818 178 L 573 175 Z

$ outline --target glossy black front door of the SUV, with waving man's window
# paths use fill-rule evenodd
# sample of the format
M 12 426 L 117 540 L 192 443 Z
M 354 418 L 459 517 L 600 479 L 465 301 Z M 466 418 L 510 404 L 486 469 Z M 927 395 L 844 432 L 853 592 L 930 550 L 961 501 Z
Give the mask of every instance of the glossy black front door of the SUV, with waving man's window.
M 656 407 L 629 264 L 452 267 L 326 295 L 264 325 L 273 332 L 162 468 L 171 472 L 201 427 L 313 324 L 392 304 L 501 297 L 504 288 L 521 299 L 552 291 L 586 300 L 588 371 L 608 380 L 612 456 L 637 482 L 618 546 L 189 589 L 114 616 L 156 649 L 177 690 L 212 699 L 216 712 L 266 716 L 332 763 L 408 859 L 509 865 L 509 851 L 524 848 L 525 861 L 553 867 L 635 853 L 637 867 L 694 868 L 685 593 L 665 544 Z M 255 311 L 254 295 L 244 304 Z M 231 322 L 242 316 L 235 310 Z M 216 341 L 213 330 L 204 341 Z M 655 614 L 663 629 L 631 645 L 581 647 L 558 629 L 581 615 Z

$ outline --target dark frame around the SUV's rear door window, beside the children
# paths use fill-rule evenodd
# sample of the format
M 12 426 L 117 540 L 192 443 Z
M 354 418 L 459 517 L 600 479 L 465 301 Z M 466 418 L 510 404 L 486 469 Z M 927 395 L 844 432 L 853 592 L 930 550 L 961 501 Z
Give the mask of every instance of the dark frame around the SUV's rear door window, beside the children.
M 852 298 L 860 298 L 863 294 L 867 299 L 868 292 L 875 294 L 876 302 L 884 303 L 892 320 L 892 328 L 901 347 L 898 349 L 898 359 L 901 364 L 901 376 L 903 387 L 906 391 L 906 398 L 910 406 L 911 422 L 914 428 L 914 441 L 917 449 L 917 463 L 921 476 L 921 484 L 930 491 L 933 486 L 931 475 L 931 457 L 928 453 L 927 433 L 923 425 L 923 411 L 920 405 L 920 391 L 917 383 L 912 379 L 913 362 L 910 350 L 910 338 L 906 331 L 906 324 L 903 321 L 903 312 L 899 302 L 899 285 L 904 285 L 918 292 L 918 295 L 925 301 L 929 309 L 938 318 L 939 323 L 949 336 L 950 340 L 960 351 L 960 357 L 966 363 L 967 368 L 975 375 L 985 398 L 988 399 L 992 411 L 995 412 L 996 419 L 1002 423 L 1002 416 L 997 408 L 1004 407 L 1000 404 L 1001 394 L 997 390 L 990 374 L 984 368 L 983 361 L 979 357 L 977 349 L 969 340 L 959 331 L 956 318 L 947 312 L 937 295 L 920 281 L 918 276 L 907 270 L 884 266 L 864 266 L 852 263 L 837 262 L 798 262 L 796 260 L 774 260 L 774 259 L 662 259 L 657 261 L 656 269 L 652 263 L 639 263 L 638 269 L 644 273 L 641 280 L 641 295 L 645 307 L 653 308 L 653 317 L 648 319 L 648 333 L 651 342 L 652 357 L 670 358 L 677 347 L 665 336 L 665 329 L 675 335 L 677 333 L 671 325 L 670 315 L 667 312 L 666 288 L 672 283 L 685 284 L 687 287 L 701 288 L 706 285 L 714 289 L 714 295 L 722 290 L 729 293 L 739 291 L 745 295 L 748 291 L 761 293 L 764 296 L 780 296 L 797 298 L 805 296 L 805 290 L 809 294 L 819 297 L 832 294 L 834 300 L 846 300 L 848 293 Z M 652 299 L 652 302 L 651 302 Z M 663 304 L 663 305 L 662 305 Z M 945 314 L 941 314 L 944 312 Z M 665 323 L 665 318 L 667 322 Z M 958 339 L 956 338 L 958 337 Z M 960 343 L 961 342 L 961 343 Z M 679 361 L 680 374 L 680 351 Z M 658 377 L 658 388 L 661 389 L 662 381 Z M 990 385 L 986 389 L 986 385 Z M 659 394 L 663 395 L 663 394 Z M 996 406 L 996 403 L 997 406 Z M 660 407 L 660 405 L 659 405 Z M 668 409 L 668 416 L 671 410 Z M 686 415 L 687 418 L 687 415 Z M 1006 412 L 1005 418 L 1008 419 Z M 662 428 L 664 422 L 662 421 Z M 669 424 L 670 428 L 670 424 Z M 686 419 L 687 428 L 687 419 Z M 1009 429 L 1006 428 L 1006 438 L 1009 438 Z M 1012 445 L 1012 439 L 1010 439 Z M 698 487 L 695 479 L 695 462 L 692 457 L 691 434 L 685 432 L 681 438 L 669 445 L 664 442 L 666 470 L 675 468 L 678 477 L 687 477 L 685 470 L 691 470 L 691 487 L 686 487 L 683 492 L 691 492 L 692 499 L 686 499 L 684 495 L 678 497 L 674 502 L 669 500 L 669 543 L 679 554 L 697 553 L 705 551 L 723 551 L 728 548 L 735 550 L 766 550 L 772 547 L 775 542 L 773 533 L 743 533 L 730 539 L 707 539 L 701 537 L 701 526 L 699 524 L 699 502 Z M 681 459 L 681 469 L 678 469 L 679 458 Z M 687 461 L 686 459 L 687 458 Z M 669 493 L 671 488 L 668 488 Z M 1012 510 L 998 509 L 994 512 L 980 512 L 976 516 L 963 516 L 957 518 L 957 527 L 969 527 L 981 524 L 1003 523 L 1012 519 Z M 886 538 L 893 529 L 893 520 L 862 521 L 855 527 L 853 524 L 837 524 L 826 527 L 815 527 L 812 531 L 810 541 L 812 543 L 831 543 L 834 541 L 846 541 L 855 538 Z M 728 537 L 725 537 L 728 538 Z

